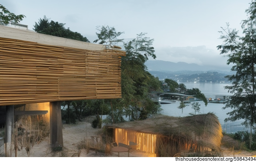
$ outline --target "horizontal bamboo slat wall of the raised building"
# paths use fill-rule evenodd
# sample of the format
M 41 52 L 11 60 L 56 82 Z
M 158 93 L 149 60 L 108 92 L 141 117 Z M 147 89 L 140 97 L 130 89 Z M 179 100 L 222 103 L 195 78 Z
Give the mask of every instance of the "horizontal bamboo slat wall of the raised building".
M 0 35 L 0 105 L 120 98 L 124 55 Z

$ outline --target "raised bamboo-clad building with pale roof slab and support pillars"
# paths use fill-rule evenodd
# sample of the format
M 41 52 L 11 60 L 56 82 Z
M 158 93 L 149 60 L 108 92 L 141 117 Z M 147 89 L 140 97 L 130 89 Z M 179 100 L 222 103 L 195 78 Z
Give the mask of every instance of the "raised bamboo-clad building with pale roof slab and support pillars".
M 101 44 L 0 25 L 0 118 L 6 124 L 6 156 L 12 152 L 15 115 L 48 113 L 49 144 L 54 147 L 63 144 L 61 101 L 121 98 L 125 54 Z M 39 105 L 49 110 L 38 111 Z M 26 111 L 31 107 L 35 109 Z

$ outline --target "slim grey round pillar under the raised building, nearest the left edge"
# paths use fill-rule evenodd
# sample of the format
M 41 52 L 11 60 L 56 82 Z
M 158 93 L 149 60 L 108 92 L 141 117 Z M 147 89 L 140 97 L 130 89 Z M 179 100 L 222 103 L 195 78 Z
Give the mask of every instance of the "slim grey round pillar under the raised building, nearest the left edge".
M 6 106 L 6 125 L 5 125 L 5 157 L 11 157 L 12 127 L 14 120 L 14 105 Z

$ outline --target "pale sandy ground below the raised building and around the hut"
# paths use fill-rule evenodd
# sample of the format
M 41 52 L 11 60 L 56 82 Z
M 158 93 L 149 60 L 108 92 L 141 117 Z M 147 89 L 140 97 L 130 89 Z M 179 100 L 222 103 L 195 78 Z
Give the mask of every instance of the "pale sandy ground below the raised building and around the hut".
M 83 140 L 91 140 L 91 136 L 98 136 L 100 129 L 94 129 L 90 122 L 93 118 L 86 118 L 82 122 L 77 124 L 63 124 L 63 151 L 53 152 L 49 147 L 49 139 L 46 138 L 39 144 L 36 144 L 30 150 L 30 157 L 118 157 L 118 153 L 112 152 L 111 154 L 105 154 L 103 152 L 95 153 L 95 150 L 90 149 L 87 152 L 86 149 L 78 150 L 77 145 Z M 5 156 L 4 139 L 0 138 L 0 157 Z M 230 151 L 228 148 L 222 147 L 223 157 L 256 157 L 256 151 Z M 15 156 L 15 152 L 12 152 L 12 156 Z M 120 152 L 120 157 L 128 157 L 127 152 Z M 28 157 L 28 154 L 23 147 L 18 151 L 18 157 Z M 130 157 L 155 157 L 154 154 L 147 154 L 142 151 L 130 150 Z

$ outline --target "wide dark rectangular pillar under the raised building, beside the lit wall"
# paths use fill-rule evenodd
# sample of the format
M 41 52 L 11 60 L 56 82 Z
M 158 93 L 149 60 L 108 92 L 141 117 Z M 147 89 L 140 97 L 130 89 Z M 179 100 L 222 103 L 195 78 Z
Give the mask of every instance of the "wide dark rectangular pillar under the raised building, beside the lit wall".
M 50 147 L 63 146 L 61 102 L 50 102 Z

